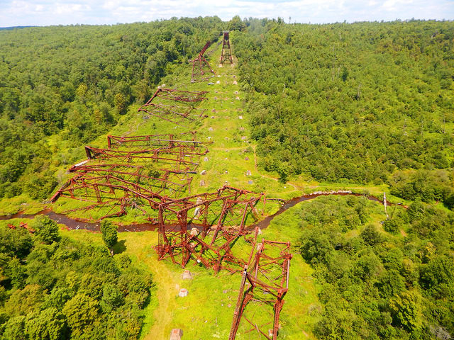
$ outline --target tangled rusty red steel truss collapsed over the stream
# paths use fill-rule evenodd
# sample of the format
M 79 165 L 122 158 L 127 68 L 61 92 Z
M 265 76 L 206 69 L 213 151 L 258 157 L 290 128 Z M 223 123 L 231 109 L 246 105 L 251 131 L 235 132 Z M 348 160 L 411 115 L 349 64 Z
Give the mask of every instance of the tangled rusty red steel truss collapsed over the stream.
M 214 193 L 179 198 L 159 206 L 160 260 L 170 258 L 186 266 L 193 258 L 207 268 L 240 271 L 245 260 L 231 247 L 245 235 L 245 225 L 258 219 L 256 205 L 265 195 L 223 186 Z

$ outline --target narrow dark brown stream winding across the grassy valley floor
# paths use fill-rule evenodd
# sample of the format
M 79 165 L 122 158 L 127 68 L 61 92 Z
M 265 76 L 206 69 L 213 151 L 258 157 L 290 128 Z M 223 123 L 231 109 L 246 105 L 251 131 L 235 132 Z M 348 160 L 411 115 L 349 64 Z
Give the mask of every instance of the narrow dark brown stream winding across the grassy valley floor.
M 298 203 L 304 202 L 305 200 L 313 200 L 314 198 L 317 198 L 319 196 L 331 196 L 331 195 L 336 195 L 336 196 L 362 196 L 360 193 L 351 193 L 351 192 L 319 192 L 319 193 L 311 193 L 308 195 L 304 195 L 301 197 L 297 198 L 292 198 L 291 200 L 287 200 L 281 208 L 275 214 L 270 215 L 265 217 L 264 220 L 261 220 L 260 222 L 256 223 L 255 225 L 250 225 L 248 229 L 253 229 L 255 226 L 260 227 L 260 229 L 265 229 L 270 225 L 270 222 L 272 221 L 273 218 L 275 218 L 278 215 L 281 215 L 282 212 L 288 210 L 289 208 L 294 207 L 294 205 L 297 205 Z M 365 196 L 367 197 L 368 200 L 373 200 L 375 202 L 382 203 L 382 200 L 374 197 L 374 196 Z M 387 202 L 387 205 L 392 205 L 392 203 Z M 62 225 L 65 225 L 67 229 L 84 229 L 84 230 L 89 230 L 92 232 L 99 232 L 99 222 L 86 222 L 82 220 L 77 220 L 76 218 L 71 218 L 67 217 L 67 215 L 64 214 L 58 214 L 57 212 L 53 212 L 51 209 L 45 209 L 41 210 L 40 212 L 37 212 L 35 214 L 23 214 L 22 212 L 18 212 L 13 215 L 4 215 L 0 216 L 0 220 L 12 220 L 13 218 L 29 218 L 33 219 L 36 215 L 46 215 L 49 216 L 51 220 L 60 223 Z M 194 225 L 191 225 L 189 227 L 194 227 Z M 154 231 L 157 230 L 157 224 L 153 223 L 137 223 L 137 224 L 131 224 L 131 225 L 118 225 L 118 232 L 145 232 L 145 231 Z

